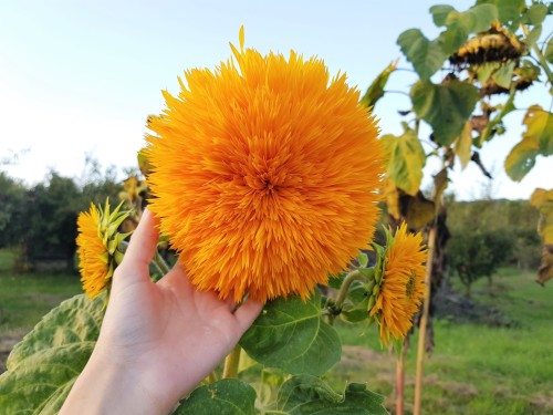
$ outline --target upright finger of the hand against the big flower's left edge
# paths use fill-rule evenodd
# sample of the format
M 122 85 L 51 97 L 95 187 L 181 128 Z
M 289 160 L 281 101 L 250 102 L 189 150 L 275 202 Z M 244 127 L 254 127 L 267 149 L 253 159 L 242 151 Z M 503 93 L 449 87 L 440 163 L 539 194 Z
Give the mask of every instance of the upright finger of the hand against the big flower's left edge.
M 149 276 L 148 267 L 154 258 L 159 238 L 156 225 L 157 220 L 154 215 L 148 209 L 144 210 L 140 222 L 131 237 L 127 251 L 118 269 L 134 269 L 139 271 L 140 274 Z

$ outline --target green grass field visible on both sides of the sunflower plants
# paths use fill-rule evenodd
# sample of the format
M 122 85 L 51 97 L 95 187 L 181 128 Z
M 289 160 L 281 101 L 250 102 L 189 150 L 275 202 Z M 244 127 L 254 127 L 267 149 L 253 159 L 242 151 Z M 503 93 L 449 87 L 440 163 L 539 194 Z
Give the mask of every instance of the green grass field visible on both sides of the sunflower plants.
M 11 255 L 0 250 L 0 373 L 7 353 L 62 300 L 80 293 L 77 274 L 13 274 Z M 473 300 L 493 304 L 511 326 L 435 324 L 436 350 L 426 360 L 424 414 L 553 414 L 553 284 L 533 272 L 503 269 L 493 283 L 482 279 Z M 383 351 L 375 330 L 336 323 L 344 351 L 328 374 L 336 388 L 367 382 L 394 411 L 395 355 Z M 407 355 L 406 413 L 411 412 L 415 344 Z

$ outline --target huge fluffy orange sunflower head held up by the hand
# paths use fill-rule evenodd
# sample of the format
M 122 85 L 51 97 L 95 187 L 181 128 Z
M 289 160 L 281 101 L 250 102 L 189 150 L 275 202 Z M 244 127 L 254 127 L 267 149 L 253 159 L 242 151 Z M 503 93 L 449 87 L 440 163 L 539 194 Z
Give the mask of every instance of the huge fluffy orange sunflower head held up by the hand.
M 200 290 L 306 298 L 373 236 L 378 128 L 323 61 L 231 49 L 149 118 L 150 209 Z

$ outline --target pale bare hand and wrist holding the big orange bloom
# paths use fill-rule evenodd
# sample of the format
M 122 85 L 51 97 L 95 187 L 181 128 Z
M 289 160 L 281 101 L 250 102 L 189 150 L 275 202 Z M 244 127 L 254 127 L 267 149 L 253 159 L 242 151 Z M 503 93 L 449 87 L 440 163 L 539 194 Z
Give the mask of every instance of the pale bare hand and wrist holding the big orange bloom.
M 113 277 L 94 352 L 60 414 L 170 413 L 260 313 L 259 302 L 236 310 L 231 298 L 197 291 L 179 264 L 154 283 L 156 226 L 146 210 Z

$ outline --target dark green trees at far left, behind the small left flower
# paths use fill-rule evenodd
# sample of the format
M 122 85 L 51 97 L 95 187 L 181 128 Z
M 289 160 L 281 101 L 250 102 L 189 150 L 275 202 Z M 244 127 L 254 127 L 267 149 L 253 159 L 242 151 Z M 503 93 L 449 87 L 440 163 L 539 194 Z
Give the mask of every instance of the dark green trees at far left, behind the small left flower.
M 73 270 L 79 212 L 106 197 L 116 203 L 122 188 L 114 168 L 102 172 L 92 159 L 81 179 L 50 172 L 32 187 L 0 172 L 0 248 L 15 250 L 15 271 Z

